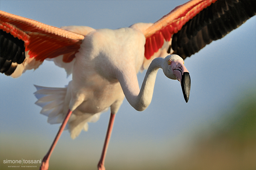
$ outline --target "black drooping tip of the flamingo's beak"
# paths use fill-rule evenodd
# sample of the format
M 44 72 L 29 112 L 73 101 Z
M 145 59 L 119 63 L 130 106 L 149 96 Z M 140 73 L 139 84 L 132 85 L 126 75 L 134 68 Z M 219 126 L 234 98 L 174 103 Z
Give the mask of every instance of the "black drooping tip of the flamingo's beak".
M 188 72 L 184 72 L 181 78 L 181 88 L 186 103 L 188 102 L 190 95 L 191 80 Z

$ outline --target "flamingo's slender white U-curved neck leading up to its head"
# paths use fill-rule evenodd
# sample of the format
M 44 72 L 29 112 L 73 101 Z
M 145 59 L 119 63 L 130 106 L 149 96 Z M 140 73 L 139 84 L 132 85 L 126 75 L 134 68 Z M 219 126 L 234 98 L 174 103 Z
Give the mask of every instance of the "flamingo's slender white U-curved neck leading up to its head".
M 137 96 L 125 94 L 130 105 L 137 111 L 144 111 L 149 106 L 153 96 L 156 73 L 161 68 L 163 60 L 164 58 L 159 57 L 151 62 Z

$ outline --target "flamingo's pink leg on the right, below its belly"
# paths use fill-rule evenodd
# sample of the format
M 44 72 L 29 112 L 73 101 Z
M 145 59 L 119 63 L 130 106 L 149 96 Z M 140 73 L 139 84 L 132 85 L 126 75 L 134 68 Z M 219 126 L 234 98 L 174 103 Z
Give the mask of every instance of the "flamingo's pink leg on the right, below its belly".
M 102 153 L 101 153 L 101 159 L 100 159 L 100 162 L 98 163 L 98 170 L 105 170 L 104 162 L 105 162 L 105 158 L 106 158 L 108 143 L 110 141 L 110 137 L 111 137 L 111 133 L 112 133 L 113 125 L 114 125 L 115 116 L 116 116 L 116 114 L 112 114 L 112 113 L 110 114 L 110 121 L 108 123 L 108 130 L 107 130 L 105 143 L 104 143 Z

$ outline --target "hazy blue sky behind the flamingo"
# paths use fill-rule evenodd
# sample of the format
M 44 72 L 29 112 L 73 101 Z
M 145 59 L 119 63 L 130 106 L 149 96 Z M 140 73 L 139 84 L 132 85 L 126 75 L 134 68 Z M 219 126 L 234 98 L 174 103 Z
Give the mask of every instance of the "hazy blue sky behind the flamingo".
M 95 29 L 116 29 L 138 22 L 155 22 L 184 2 L 186 1 L 1 0 L 0 9 L 56 27 L 83 25 Z M 207 126 L 219 118 L 219 111 L 227 109 L 230 102 L 238 100 L 236 96 L 250 89 L 255 91 L 255 16 L 221 40 L 212 42 L 187 58 L 185 66 L 191 76 L 188 103 L 183 98 L 180 83 L 167 79 L 162 70 L 159 70 L 153 99 L 145 111 L 135 111 L 124 100 L 116 116 L 106 162 L 113 161 L 112 158 L 117 155 L 120 159 L 129 155 L 145 156 L 152 152 L 166 155 L 177 147 L 174 143 L 181 134 L 189 134 L 194 128 Z M 138 74 L 140 84 L 144 75 L 145 71 Z M 71 78 L 72 76 L 66 78 L 65 70 L 49 61 L 44 61 L 35 71 L 28 70 L 17 79 L 1 74 L 1 147 L 11 142 L 18 148 L 29 148 L 32 140 L 35 147 L 42 147 L 43 158 L 59 124 L 50 125 L 47 117 L 39 114 L 41 108 L 34 104 L 36 97 L 33 93 L 36 88 L 33 84 L 64 87 Z M 60 147 L 57 145 L 57 151 L 54 151 L 52 157 L 74 151 L 74 154 L 81 154 L 81 157 L 83 154 L 98 157 L 95 160 L 97 162 L 109 114 L 108 111 L 101 115 L 97 123 L 90 123 L 88 132 L 82 131 L 75 140 L 71 140 L 68 131 L 63 132 Z M 123 153 L 119 153 L 121 151 Z M 12 152 L 9 154 L 14 155 L 15 151 Z M 2 159 L 7 158 L 1 155 L 0 161 Z

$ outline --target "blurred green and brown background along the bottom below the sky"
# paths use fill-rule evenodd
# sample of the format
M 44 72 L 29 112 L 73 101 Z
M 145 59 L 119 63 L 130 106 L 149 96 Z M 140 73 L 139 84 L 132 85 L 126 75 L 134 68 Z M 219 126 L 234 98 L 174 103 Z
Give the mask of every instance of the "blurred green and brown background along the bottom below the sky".
M 195 129 L 190 129 L 186 133 L 178 135 L 175 139 L 170 137 L 169 140 L 165 141 L 145 141 L 145 145 L 136 145 L 136 148 L 133 148 L 133 143 L 115 143 L 115 141 L 111 141 L 113 142 L 110 148 L 112 152 L 107 155 L 106 169 L 255 170 L 255 96 L 255 89 L 242 92 L 227 104 L 226 109 L 220 109 L 214 120 Z M 12 140 L 6 141 L 5 135 L 2 134 L 0 138 L 0 159 L 19 160 L 26 158 L 33 160 L 34 158 L 41 158 L 46 151 L 38 148 L 34 137 L 31 136 L 29 140 L 28 138 L 30 138 L 29 135 L 26 137 L 15 135 L 12 136 Z M 38 136 L 37 140 L 39 138 L 46 141 L 43 143 L 48 143 L 46 138 Z M 76 148 L 76 150 L 72 149 L 66 154 L 62 151 L 62 147 L 68 145 L 72 145 L 72 140 L 58 143 L 50 159 L 49 169 L 96 169 L 101 150 L 101 147 L 98 148 L 97 146 L 101 146 L 101 143 L 95 143 L 91 148 L 88 148 L 88 151 L 84 149 L 79 151 L 79 148 Z M 113 146 L 120 148 L 120 145 L 122 145 L 122 151 L 113 148 Z M 160 152 L 157 150 L 160 150 L 161 154 L 158 154 Z M 38 168 L 40 166 L 39 164 L 35 165 Z M 1 170 L 10 169 L 3 162 L 0 162 L 0 167 Z

